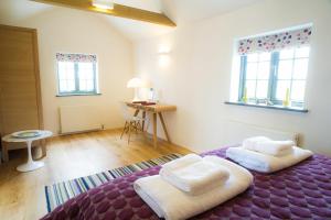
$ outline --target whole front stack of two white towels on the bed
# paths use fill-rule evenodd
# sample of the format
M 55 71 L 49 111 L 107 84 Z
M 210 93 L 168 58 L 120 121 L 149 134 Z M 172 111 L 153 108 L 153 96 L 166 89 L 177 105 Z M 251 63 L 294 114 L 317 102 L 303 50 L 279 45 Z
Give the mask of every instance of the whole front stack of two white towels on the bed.
M 160 175 L 135 182 L 137 194 L 167 220 L 188 219 L 246 190 L 253 175 L 217 156 L 194 154 L 164 164 Z

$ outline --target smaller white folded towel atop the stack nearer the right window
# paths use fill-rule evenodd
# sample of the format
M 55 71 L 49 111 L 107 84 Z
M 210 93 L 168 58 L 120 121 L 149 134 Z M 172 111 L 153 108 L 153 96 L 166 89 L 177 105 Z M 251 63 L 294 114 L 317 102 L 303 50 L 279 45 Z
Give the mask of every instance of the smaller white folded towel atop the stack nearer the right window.
M 292 152 L 293 141 L 273 141 L 265 136 L 246 139 L 243 147 L 250 151 L 269 154 L 273 156 L 284 156 Z

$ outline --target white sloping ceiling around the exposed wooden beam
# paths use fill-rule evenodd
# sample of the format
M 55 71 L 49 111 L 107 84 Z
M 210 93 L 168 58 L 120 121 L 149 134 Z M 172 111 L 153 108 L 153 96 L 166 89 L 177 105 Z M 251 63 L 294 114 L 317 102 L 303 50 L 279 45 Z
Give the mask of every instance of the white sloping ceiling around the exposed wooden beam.
M 163 12 L 178 26 L 215 16 L 263 0 L 114 0 L 115 3 Z M 56 7 L 29 0 L 0 0 L 0 23 L 13 23 Z M 174 28 L 150 24 L 122 18 L 96 14 L 117 28 L 131 41 L 168 33 Z

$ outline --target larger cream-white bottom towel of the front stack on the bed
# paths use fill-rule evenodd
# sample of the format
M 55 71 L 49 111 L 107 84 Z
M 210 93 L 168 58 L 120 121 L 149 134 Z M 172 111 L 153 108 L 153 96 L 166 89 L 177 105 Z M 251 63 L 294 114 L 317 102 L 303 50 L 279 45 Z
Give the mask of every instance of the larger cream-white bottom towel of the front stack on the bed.
M 188 219 L 245 191 L 253 182 L 253 175 L 247 169 L 220 157 L 211 161 L 225 166 L 231 174 L 222 186 L 200 196 L 183 193 L 164 182 L 159 175 L 136 180 L 134 188 L 159 218 Z

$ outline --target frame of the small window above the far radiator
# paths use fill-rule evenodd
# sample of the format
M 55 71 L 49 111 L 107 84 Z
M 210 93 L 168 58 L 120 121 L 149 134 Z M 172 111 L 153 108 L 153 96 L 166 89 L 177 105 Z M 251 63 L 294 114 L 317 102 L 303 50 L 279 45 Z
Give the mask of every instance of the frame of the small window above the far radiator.
M 74 69 L 75 69 L 75 90 L 73 91 L 61 91 L 60 89 L 60 68 L 58 68 L 58 63 L 61 61 L 56 61 L 56 75 L 57 75 L 57 96 L 90 96 L 90 95 L 98 95 L 98 84 L 97 84 L 97 62 L 88 62 L 93 64 L 93 86 L 94 89 L 90 91 L 84 91 L 79 89 L 79 68 L 78 64 L 82 62 L 68 62 L 68 63 L 74 63 Z

